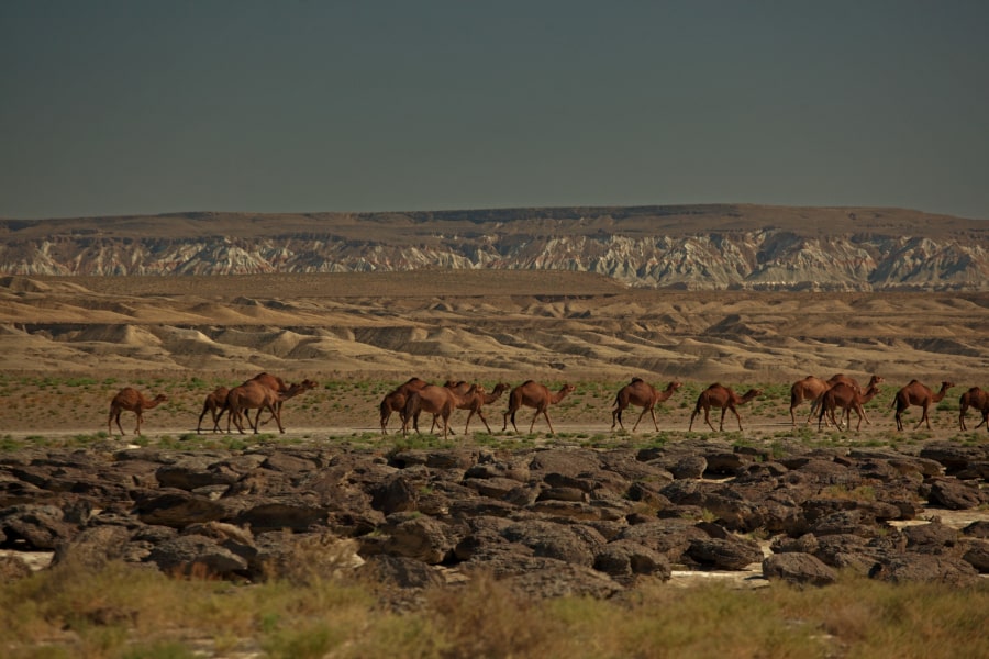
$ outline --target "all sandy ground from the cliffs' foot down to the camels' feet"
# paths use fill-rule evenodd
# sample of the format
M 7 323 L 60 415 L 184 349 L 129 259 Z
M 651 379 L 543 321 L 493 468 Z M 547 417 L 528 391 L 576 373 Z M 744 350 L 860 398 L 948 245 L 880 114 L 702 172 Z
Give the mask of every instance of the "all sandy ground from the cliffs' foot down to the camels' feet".
M 884 378 L 866 405 L 871 423 L 849 439 L 894 436 L 889 406 L 912 379 L 934 392 L 953 384 L 932 405 L 931 429 L 920 431 L 951 438 L 962 432 L 960 394 L 989 386 L 989 294 L 657 290 L 518 270 L 11 276 L 0 280 L 0 434 L 12 436 L 107 432 L 109 401 L 125 386 L 169 398 L 145 413 L 144 434 L 181 436 L 196 432 L 214 387 L 267 371 L 320 384 L 286 403 L 287 437 L 379 433 L 381 398 L 413 376 L 489 391 L 527 379 L 554 390 L 573 383 L 551 409 L 554 427 L 589 436 L 611 433 L 614 395 L 634 377 L 657 389 L 682 382 L 657 410 L 669 433 L 687 431 L 708 384 L 758 387 L 764 395 L 740 407 L 744 434 L 771 436 L 792 431 L 792 382 L 846 373 Z M 486 409 L 492 433 L 505 406 L 502 396 Z M 803 403 L 798 418 L 809 411 Z M 624 413 L 627 429 L 638 412 Z M 466 414 L 454 414 L 454 429 Z M 920 411 L 904 418 L 909 436 Z M 977 414 L 969 418 L 971 433 Z M 124 414 L 127 433 L 133 421 Z M 519 413 L 523 434 L 531 421 L 531 411 Z M 729 414 L 725 431 L 737 429 Z M 547 431 L 536 420 L 534 432 Z M 693 431 L 710 428 L 699 417 Z M 637 432 L 655 432 L 648 415 Z

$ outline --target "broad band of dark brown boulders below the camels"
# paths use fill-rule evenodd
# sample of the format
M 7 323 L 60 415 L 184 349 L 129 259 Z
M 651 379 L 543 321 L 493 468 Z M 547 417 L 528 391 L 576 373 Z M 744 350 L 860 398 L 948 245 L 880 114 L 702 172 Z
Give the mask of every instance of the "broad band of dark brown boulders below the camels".
M 925 453 L 949 455 L 958 468 L 964 451 L 949 448 Z M 940 504 L 937 487 L 947 483 L 968 493 L 953 507 L 979 509 L 984 481 L 893 451 L 770 458 L 707 439 L 643 450 L 388 456 L 102 449 L 0 457 L 0 548 L 54 551 L 56 563 L 122 560 L 253 580 L 359 568 L 400 590 L 484 570 L 533 596 L 611 596 L 665 581 L 674 567 L 762 566 L 766 579 L 810 584 L 831 583 L 838 569 L 958 585 L 989 571 L 985 522 L 957 529 L 916 518 L 920 506 Z M 966 455 L 978 461 L 985 453 Z M 688 455 L 707 467 L 674 476 L 668 467 Z M 121 472 L 130 487 L 74 492 L 80 473 L 114 480 Z

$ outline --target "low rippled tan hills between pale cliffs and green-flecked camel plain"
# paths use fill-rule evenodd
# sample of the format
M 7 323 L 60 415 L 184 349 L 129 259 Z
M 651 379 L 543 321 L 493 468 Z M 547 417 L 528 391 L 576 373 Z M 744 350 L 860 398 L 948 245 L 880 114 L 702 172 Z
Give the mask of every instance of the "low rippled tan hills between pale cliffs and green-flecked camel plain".
M 790 381 L 989 370 L 989 294 L 638 289 L 566 271 L 0 278 L 8 371 Z

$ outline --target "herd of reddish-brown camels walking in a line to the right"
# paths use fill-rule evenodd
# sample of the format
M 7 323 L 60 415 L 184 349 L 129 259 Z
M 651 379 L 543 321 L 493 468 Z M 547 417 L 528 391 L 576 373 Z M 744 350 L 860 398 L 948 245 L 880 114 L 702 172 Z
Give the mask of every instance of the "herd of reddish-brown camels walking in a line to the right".
M 864 405 L 879 393 L 879 384 L 882 382 L 879 376 L 873 376 L 868 384 L 863 388 L 855 381 L 844 375 L 836 375 L 829 380 L 822 380 L 814 376 L 809 376 L 802 380 L 793 382 L 790 387 L 790 420 L 793 427 L 797 427 L 796 409 L 803 402 L 811 403 L 811 413 L 807 417 L 805 424 L 810 424 L 811 420 L 816 416 L 818 428 L 822 428 L 825 424 L 833 425 L 838 428 L 847 429 L 852 425 L 852 412 L 858 416 L 856 431 L 862 427 L 862 422 L 869 424 L 866 416 Z M 935 393 L 929 387 L 918 380 L 911 380 L 908 384 L 897 391 L 890 409 L 896 410 L 897 429 L 903 429 L 902 414 L 911 405 L 921 407 L 922 414 L 914 429 L 920 428 L 922 424 L 926 424 L 927 429 L 931 428 L 931 420 L 929 411 L 931 405 L 937 404 L 947 394 L 948 390 L 955 384 L 949 381 L 941 383 L 941 389 Z M 242 384 L 227 389 L 226 387 L 218 387 L 210 392 L 202 405 L 202 413 L 199 415 L 199 423 L 196 432 L 202 432 L 202 421 L 207 414 L 211 415 L 213 422 L 212 432 L 223 432 L 220 427 L 220 421 L 226 414 L 226 432 L 231 432 L 231 425 L 237 428 L 237 432 L 244 433 L 244 420 L 246 418 L 248 427 L 255 433 L 258 432 L 262 423 L 275 420 L 278 431 L 285 433 L 281 423 L 281 405 L 285 401 L 299 395 L 305 391 L 318 387 L 315 382 L 304 379 L 301 382 L 287 384 L 285 380 L 267 372 L 258 373 L 254 378 L 244 381 Z M 679 381 L 673 381 L 667 384 L 664 390 L 657 390 L 655 387 L 644 381 L 642 378 L 633 378 L 631 382 L 622 387 L 614 399 L 611 413 L 611 429 L 620 426 L 625 429 L 622 423 L 622 412 L 630 405 L 642 407 L 642 412 L 635 424 L 632 426 L 634 433 L 648 412 L 653 426 L 659 431 L 659 424 L 656 421 L 655 409 L 657 405 L 669 400 L 674 393 L 682 387 Z M 527 380 L 518 387 L 511 388 L 504 382 L 499 382 L 488 392 L 482 384 L 468 383 L 466 381 L 455 382 L 449 380 L 444 384 L 431 384 L 420 378 L 410 378 L 395 390 L 390 391 L 381 399 L 379 404 L 381 434 L 388 434 L 388 422 L 392 413 L 398 413 L 401 420 L 402 434 L 408 434 L 410 426 L 416 433 L 419 428 L 419 417 L 425 412 L 432 414 L 432 425 L 430 432 L 435 427 L 440 427 L 443 437 L 446 438 L 454 431 L 449 427 L 449 418 L 455 410 L 467 410 L 467 423 L 464 426 L 464 434 L 470 429 L 470 421 L 477 415 L 485 424 L 488 433 L 491 427 L 484 414 L 484 406 L 490 405 L 498 401 L 502 393 L 509 391 L 508 410 L 504 412 L 502 432 L 508 429 L 509 421 L 515 433 L 519 432 L 515 425 L 515 413 L 522 407 L 535 410 L 532 421 L 529 424 L 529 432 L 532 433 L 535 422 L 543 416 L 549 433 L 554 434 L 553 422 L 549 421 L 549 406 L 559 403 L 567 394 L 575 390 L 573 384 L 564 384 L 557 391 L 551 391 L 547 387 Z M 714 383 L 704 389 L 698 395 L 693 413 L 690 415 L 690 425 L 688 432 L 693 431 L 694 418 L 703 411 L 704 423 L 715 431 L 711 423 L 710 411 L 712 407 L 721 410 L 721 423 L 718 431 L 724 431 L 725 414 L 731 411 L 738 422 L 738 429 L 742 431 L 742 416 L 737 407 L 744 405 L 748 401 L 763 395 L 763 390 L 751 389 L 744 394 L 737 394 L 731 388 L 720 383 Z M 121 389 L 113 400 L 110 402 L 110 416 L 107 421 L 108 432 L 113 434 L 113 423 L 121 435 L 124 431 L 120 425 L 120 415 L 122 412 L 133 412 L 137 416 L 137 426 L 134 429 L 135 435 L 141 434 L 141 423 L 143 412 L 151 410 L 158 404 L 167 401 L 164 394 L 158 394 L 153 399 L 147 399 L 143 393 L 131 387 Z M 963 431 L 967 431 L 965 417 L 968 410 L 975 410 L 981 413 L 982 420 L 975 427 L 978 428 L 986 425 L 989 429 L 989 393 L 982 391 L 978 387 L 973 387 L 962 394 L 959 400 L 960 413 L 958 424 Z M 254 420 L 251 418 L 251 411 L 256 410 Z M 835 412 L 840 416 L 835 416 Z M 262 421 L 263 412 L 268 412 L 268 418 Z

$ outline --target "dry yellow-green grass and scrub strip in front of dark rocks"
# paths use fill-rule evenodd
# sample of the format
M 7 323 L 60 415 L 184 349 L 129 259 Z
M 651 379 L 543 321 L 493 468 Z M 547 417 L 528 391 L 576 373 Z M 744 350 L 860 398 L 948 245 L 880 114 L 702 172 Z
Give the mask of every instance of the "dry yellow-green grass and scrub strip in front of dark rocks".
M 307 565 L 305 557 L 296 563 Z M 482 573 L 427 590 L 399 613 L 380 585 L 275 579 L 173 579 L 110 563 L 69 565 L 0 587 L 0 644 L 11 659 L 222 657 L 978 657 L 989 588 L 889 584 L 757 590 L 656 583 L 615 602 L 543 603 Z

